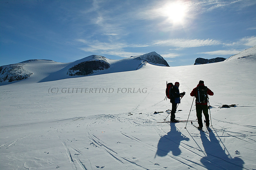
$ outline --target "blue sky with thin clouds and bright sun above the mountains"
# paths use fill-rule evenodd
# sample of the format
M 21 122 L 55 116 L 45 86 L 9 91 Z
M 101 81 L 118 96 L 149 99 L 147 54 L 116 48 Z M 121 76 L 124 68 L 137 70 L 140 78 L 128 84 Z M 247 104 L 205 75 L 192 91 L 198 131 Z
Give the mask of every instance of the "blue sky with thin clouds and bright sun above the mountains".
M 0 65 L 157 52 L 170 66 L 256 45 L 255 0 L 1 0 Z

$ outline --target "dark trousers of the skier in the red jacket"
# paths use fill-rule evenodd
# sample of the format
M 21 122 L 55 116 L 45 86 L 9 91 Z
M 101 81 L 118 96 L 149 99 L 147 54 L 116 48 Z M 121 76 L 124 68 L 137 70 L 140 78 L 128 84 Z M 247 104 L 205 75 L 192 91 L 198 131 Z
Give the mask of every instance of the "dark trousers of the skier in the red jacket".
M 203 127 L 203 121 L 202 121 L 202 111 L 204 113 L 205 117 L 205 124 L 206 126 L 210 125 L 210 120 L 209 120 L 209 114 L 208 114 L 208 105 L 195 105 L 195 110 L 196 110 L 196 117 L 198 119 L 198 125 L 200 127 Z

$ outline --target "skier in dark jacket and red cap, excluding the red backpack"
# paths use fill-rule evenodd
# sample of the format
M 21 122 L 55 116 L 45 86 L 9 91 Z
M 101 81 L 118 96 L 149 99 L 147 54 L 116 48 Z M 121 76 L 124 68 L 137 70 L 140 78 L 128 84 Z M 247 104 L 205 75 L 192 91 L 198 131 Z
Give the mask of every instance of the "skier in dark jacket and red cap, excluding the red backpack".
M 172 103 L 172 111 L 171 111 L 171 122 L 178 122 L 178 120 L 175 119 L 175 113 L 177 109 L 177 104 L 180 103 L 180 97 L 183 97 L 185 95 L 185 92 L 180 93 L 179 90 L 180 83 L 175 82 L 174 86 L 170 89 L 170 96 Z

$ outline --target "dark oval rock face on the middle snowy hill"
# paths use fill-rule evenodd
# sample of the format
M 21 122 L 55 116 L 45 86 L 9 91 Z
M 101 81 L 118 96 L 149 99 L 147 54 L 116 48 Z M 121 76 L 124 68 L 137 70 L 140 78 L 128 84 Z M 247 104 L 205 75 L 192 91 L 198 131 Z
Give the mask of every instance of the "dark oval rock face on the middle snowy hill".
M 89 56 L 88 61 L 80 62 L 68 69 L 67 74 L 70 76 L 87 76 L 99 70 L 105 70 L 110 67 L 106 58 L 103 56 Z

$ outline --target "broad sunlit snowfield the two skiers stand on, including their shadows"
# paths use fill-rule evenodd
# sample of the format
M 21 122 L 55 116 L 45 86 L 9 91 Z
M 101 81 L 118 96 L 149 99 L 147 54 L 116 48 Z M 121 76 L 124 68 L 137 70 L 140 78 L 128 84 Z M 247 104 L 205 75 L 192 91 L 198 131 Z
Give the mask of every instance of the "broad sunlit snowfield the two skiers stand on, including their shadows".
M 253 48 L 246 57 L 241 52 L 212 64 L 146 64 L 136 71 L 41 83 L 33 83 L 33 74 L 0 86 L 0 169 L 255 170 Z M 176 119 L 196 120 L 189 93 L 199 80 L 214 92 L 212 132 L 190 122 L 157 123 L 171 109 L 164 100 L 166 81 L 180 82 L 180 92 L 186 92 Z M 220 108 L 224 104 L 236 107 Z

